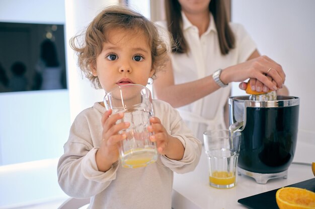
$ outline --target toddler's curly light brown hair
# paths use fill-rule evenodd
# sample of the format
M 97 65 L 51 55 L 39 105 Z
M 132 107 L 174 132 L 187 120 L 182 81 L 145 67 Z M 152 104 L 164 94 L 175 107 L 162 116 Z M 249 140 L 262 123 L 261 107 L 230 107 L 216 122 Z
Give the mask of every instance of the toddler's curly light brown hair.
M 96 65 L 96 58 L 102 52 L 103 43 L 109 42 L 108 32 L 113 29 L 142 32 L 151 49 L 153 76 L 165 67 L 168 60 L 168 49 L 160 38 L 159 28 L 144 16 L 127 7 L 107 7 L 94 18 L 85 33 L 70 39 L 70 47 L 78 56 L 78 66 L 96 89 L 102 87 L 98 77 L 92 74 L 92 66 Z

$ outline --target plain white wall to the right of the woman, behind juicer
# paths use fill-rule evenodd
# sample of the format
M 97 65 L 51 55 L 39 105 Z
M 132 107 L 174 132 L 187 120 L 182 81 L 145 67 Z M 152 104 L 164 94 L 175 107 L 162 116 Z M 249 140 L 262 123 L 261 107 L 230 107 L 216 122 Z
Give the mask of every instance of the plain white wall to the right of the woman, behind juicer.
M 315 143 L 315 1 L 232 0 L 231 3 L 232 22 L 243 24 L 259 52 L 282 65 L 290 95 L 300 98 L 299 135 L 304 133 Z

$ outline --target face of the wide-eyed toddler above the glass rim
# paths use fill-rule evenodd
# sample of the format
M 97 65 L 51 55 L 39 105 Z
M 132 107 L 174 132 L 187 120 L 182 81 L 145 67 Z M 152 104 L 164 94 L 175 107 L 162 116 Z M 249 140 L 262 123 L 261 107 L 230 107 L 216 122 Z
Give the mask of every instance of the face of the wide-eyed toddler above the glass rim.
M 93 75 L 100 80 L 102 88 L 109 92 L 125 84 L 146 86 L 153 75 L 151 50 L 142 33 L 121 29 L 108 33 L 109 42 L 96 59 Z

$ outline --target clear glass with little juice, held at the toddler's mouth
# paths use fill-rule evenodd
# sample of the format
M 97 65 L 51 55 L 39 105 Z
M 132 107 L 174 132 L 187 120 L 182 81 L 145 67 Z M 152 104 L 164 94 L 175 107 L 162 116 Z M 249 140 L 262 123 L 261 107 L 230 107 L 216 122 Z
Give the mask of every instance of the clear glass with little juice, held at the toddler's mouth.
M 126 84 L 114 88 L 104 97 L 107 110 L 113 113 L 124 113 L 117 121 L 129 122 L 127 129 L 119 131 L 127 138 L 120 142 L 119 156 L 123 167 L 137 168 L 151 164 L 157 159 L 155 142 L 149 139 L 149 119 L 153 116 L 151 92 L 139 84 Z

